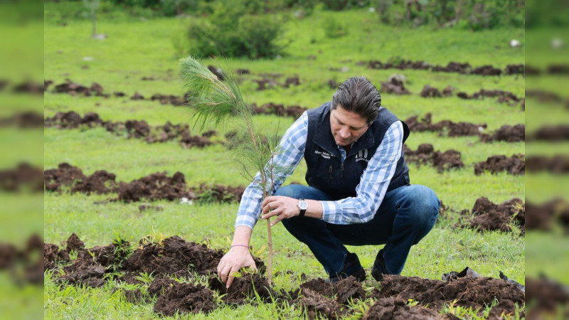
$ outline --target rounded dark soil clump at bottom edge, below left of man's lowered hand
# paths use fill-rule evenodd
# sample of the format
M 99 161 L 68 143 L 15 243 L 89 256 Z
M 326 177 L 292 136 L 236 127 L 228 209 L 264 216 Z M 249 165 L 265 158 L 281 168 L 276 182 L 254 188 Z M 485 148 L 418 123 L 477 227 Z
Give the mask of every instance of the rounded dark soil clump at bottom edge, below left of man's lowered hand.
M 213 292 L 201 285 L 174 283 L 154 304 L 154 311 L 163 316 L 179 314 L 208 314 L 216 309 Z

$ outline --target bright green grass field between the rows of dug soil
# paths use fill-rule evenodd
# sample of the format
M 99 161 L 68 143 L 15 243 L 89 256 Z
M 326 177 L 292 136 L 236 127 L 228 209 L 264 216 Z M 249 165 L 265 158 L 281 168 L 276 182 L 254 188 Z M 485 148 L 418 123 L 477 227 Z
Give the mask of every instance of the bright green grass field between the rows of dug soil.
M 46 4 L 46 6 L 54 4 Z M 326 18 L 349 21 L 349 36 L 328 39 L 322 23 Z M 145 97 L 155 93 L 182 95 L 184 90 L 178 77 L 179 62 L 171 43 L 187 21 L 181 18 L 161 18 L 146 21 L 100 21 L 98 32 L 109 38 L 97 41 L 90 38 L 90 23 L 68 21 L 66 26 L 47 21 L 44 28 L 44 78 L 55 84 L 70 78 L 83 85 L 98 82 L 105 92 L 125 92 L 127 97 L 72 97 L 46 92 L 45 117 L 58 111 L 73 110 L 79 114 L 97 112 L 103 120 L 125 121 L 144 119 L 159 125 L 166 121 L 191 123 L 192 111 L 187 107 L 160 105 L 159 102 L 131 101 L 128 97 L 139 92 Z M 376 14 L 368 11 L 341 13 L 316 11 L 314 16 L 302 20 L 290 19 L 285 26 L 286 38 L 292 39 L 286 54 L 276 60 L 204 60 L 207 64 L 223 68 L 246 68 L 252 75 L 245 77 L 242 88 L 250 102 L 266 102 L 285 105 L 318 107 L 329 101 L 334 89 L 327 85 L 329 79 L 338 82 L 353 75 L 365 75 L 374 84 L 386 81 L 393 73 L 408 78 L 411 95 L 383 94 L 383 105 L 400 119 L 432 112 L 433 122 L 450 119 L 454 122 L 486 123 L 486 131 L 492 132 L 503 124 L 525 122 L 525 113 L 519 106 L 510 107 L 496 100 L 460 100 L 457 97 L 427 99 L 419 95 L 424 85 L 442 89 L 447 85 L 469 93 L 479 89 L 499 89 L 523 97 L 523 77 L 482 77 L 457 73 L 431 73 L 420 70 L 371 70 L 366 65 L 356 65 L 360 60 L 381 60 L 400 56 L 410 60 L 426 60 L 446 65 L 450 61 L 468 62 L 473 66 L 491 64 L 504 68 L 507 64 L 524 63 L 523 47 L 509 48 L 508 41 L 517 38 L 524 42 L 523 29 L 501 29 L 471 33 L 452 29 L 403 29 L 383 26 Z M 316 55 L 309 60 L 309 55 Z M 92 60 L 85 61 L 85 57 Z M 85 67 L 87 66 L 87 67 Z M 345 72 L 330 68 L 347 67 Z M 346 69 L 346 68 L 344 68 Z M 299 76 L 301 85 L 284 89 L 257 91 L 260 73 L 281 73 L 279 81 L 293 75 Z M 144 76 L 154 81 L 140 80 Z M 260 127 L 270 129 L 280 122 L 284 132 L 292 124 L 292 118 L 260 115 L 255 117 Z M 235 124 L 224 127 L 206 127 L 223 133 Z M 197 133 L 197 132 L 193 132 Z M 525 154 L 523 142 L 498 142 L 484 144 L 477 137 L 439 137 L 436 133 L 413 133 L 408 139 L 410 149 L 430 143 L 435 149 L 457 149 L 462 154 L 464 169 L 438 173 L 430 166 L 410 166 L 413 183 L 429 186 L 445 203 L 455 210 L 470 209 L 474 201 L 485 196 L 495 203 L 510 198 L 525 198 L 525 177 L 509 174 L 474 175 L 474 162 L 484 161 L 495 154 Z M 220 145 L 205 149 L 182 149 L 176 142 L 147 144 L 137 139 L 118 137 L 105 129 L 55 129 L 44 131 L 45 169 L 53 169 L 61 162 L 68 162 L 83 169 L 85 174 L 105 169 L 117 175 L 117 181 L 131 181 L 156 171 L 174 174 L 181 171 L 190 186 L 200 183 L 246 185 L 235 168 L 228 150 Z M 305 165 L 291 176 L 290 181 L 304 181 Z M 85 196 L 83 194 L 46 193 L 44 197 L 44 238 L 46 242 L 63 244 L 75 232 L 87 247 L 106 245 L 117 235 L 137 242 L 145 235 L 156 238 L 180 235 L 188 241 L 203 242 L 216 249 L 226 249 L 233 236 L 233 223 L 237 203 L 187 206 L 177 202 L 160 201 L 162 211 L 139 213 L 138 204 L 97 204 L 110 196 Z M 522 284 L 525 282 L 525 242 L 519 233 L 484 232 L 454 228 L 457 217 L 440 219 L 432 232 L 411 250 L 403 275 L 440 279 L 443 272 L 459 271 L 472 267 L 480 274 L 498 277 L 499 270 Z M 253 253 L 267 258 L 264 248 L 266 232 L 264 224 L 255 228 L 252 238 Z M 275 246 L 274 272 L 292 270 L 304 272 L 309 277 L 326 277 L 324 270 L 306 246 L 289 235 L 282 225 L 273 228 Z M 350 247 L 356 252 L 362 265 L 369 272 L 376 257 L 376 247 Z M 50 275 L 50 274 L 47 274 Z M 275 277 L 275 287 L 292 289 L 300 283 L 288 275 Z M 116 287 L 126 284 L 110 282 L 101 289 L 65 287 L 46 276 L 44 287 L 44 317 L 46 319 L 100 319 L 158 317 L 152 304 L 132 305 L 113 293 Z M 365 287 L 378 287 L 371 279 Z M 355 309 L 366 309 L 370 301 L 358 302 Z M 354 316 L 357 318 L 361 313 Z M 209 314 L 214 319 L 235 318 L 294 318 L 303 316 L 297 306 L 259 304 L 240 306 L 237 309 L 223 307 Z M 304 315 L 305 316 L 305 315 Z M 186 318 L 188 316 L 181 316 Z M 203 314 L 190 318 L 205 317 Z

